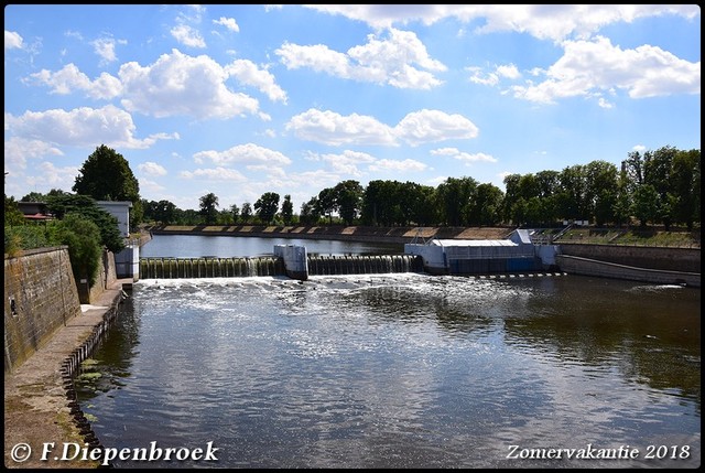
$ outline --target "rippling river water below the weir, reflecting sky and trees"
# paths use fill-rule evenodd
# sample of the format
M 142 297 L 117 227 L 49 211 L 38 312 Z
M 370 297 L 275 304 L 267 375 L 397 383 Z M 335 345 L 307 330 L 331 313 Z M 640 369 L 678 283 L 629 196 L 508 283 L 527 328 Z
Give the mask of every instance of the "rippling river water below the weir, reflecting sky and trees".
M 205 467 L 699 465 L 699 290 L 574 276 L 142 280 L 82 390 Z M 94 390 L 95 389 L 95 390 Z M 633 460 L 508 459 L 637 448 Z M 647 460 L 649 445 L 688 458 Z M 679 451 L 680 452 L 680 451 Z

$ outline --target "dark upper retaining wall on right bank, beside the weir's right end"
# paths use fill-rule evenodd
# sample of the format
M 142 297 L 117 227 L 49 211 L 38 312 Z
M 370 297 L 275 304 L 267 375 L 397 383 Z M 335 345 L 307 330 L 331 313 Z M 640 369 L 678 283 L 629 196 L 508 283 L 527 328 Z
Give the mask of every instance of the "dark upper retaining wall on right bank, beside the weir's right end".
M 701 272 L 699 248 L 560 244 L 561 254 L 637 268 Z

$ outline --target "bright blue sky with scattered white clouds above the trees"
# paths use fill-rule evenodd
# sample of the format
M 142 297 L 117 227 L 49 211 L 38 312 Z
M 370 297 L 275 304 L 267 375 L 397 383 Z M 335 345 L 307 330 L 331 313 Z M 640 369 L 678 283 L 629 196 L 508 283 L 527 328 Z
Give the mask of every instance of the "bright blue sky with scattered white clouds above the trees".
M 4 8 L 4 190 L 100 144 L 198 209 L 701 147 L 698 6 Z

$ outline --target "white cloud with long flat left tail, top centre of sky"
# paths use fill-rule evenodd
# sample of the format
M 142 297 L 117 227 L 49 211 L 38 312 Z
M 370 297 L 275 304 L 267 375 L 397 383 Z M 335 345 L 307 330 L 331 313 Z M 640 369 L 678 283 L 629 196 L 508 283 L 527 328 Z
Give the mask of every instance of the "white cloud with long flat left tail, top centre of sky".
M 446 66 L 429 55 L 414 32 L 390 29 L 388 35 L 380 40 L 370 34 L 367 44 L 350 47 L 346 53 L 322 44 L 284 43 L 275 54 L 290 69 L 308 67 L 336 77 L 399 88 L 430 89 L 442 84 L 432 72 L 446 71 Z

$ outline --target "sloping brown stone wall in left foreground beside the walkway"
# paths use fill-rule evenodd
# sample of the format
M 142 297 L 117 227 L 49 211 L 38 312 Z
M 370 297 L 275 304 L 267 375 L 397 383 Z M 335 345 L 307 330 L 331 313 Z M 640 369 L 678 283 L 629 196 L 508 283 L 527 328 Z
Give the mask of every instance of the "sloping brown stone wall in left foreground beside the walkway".
M 80 314 L 67 247 L 4 259 L 4 370 L 21 365 Z

